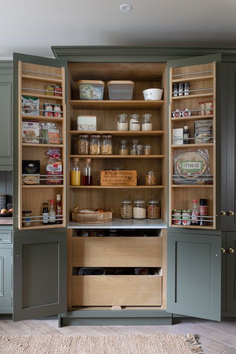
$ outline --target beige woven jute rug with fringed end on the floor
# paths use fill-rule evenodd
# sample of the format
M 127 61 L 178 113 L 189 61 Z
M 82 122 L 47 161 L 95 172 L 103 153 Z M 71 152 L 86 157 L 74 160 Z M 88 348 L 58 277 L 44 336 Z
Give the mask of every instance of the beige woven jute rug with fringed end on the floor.
M 0 354 L 193 354 L 193 335 L 2 336 Z

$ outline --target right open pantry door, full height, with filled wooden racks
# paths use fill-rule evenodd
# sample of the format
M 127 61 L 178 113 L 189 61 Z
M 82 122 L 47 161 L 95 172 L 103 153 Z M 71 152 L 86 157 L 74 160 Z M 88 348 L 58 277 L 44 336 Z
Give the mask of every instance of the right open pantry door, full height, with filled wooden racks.
M 220 66 L 220 54 L 167 63 L 167 311 L 217 321 L 221 319 L 221 213 L 216 193 L 221 190 Z M 183 130 L 189 135 L 183 136 Z

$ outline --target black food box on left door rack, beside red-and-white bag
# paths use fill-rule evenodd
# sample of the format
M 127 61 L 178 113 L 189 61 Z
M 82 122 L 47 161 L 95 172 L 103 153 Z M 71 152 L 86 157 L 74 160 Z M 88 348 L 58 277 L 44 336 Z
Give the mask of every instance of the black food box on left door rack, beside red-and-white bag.
M 22 160 L 22 184 L 39 184 L 40 161 Z

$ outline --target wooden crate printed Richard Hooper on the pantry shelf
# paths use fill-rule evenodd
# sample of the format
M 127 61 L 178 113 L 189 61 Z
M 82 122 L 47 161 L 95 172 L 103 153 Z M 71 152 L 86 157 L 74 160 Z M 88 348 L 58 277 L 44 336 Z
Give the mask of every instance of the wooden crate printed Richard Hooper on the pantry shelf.
M 101 171 L 101 185 L 137 185 L 137 171 Z

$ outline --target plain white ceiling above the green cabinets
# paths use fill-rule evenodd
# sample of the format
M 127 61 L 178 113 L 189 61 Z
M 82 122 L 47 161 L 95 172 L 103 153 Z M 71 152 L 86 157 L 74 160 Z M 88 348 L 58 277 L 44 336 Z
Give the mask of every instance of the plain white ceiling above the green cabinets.
M 51 45 L 236 47 L 236 0 L 0 1 L 1 59 Z

